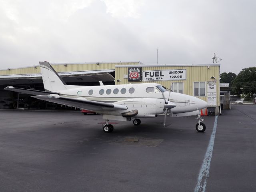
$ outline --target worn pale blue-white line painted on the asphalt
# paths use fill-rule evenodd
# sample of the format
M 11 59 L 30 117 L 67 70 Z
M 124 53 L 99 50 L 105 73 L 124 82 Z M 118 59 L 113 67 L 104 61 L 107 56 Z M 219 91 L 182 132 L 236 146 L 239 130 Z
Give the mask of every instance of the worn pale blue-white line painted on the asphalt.
M 200 172 L 198 174 L 197 184 L 194 192 L 205 192 L 205 189 L 206 189 L 206 181 L 207 181 L 207 178 L 209 177 L 210 163 L 212 159 L 212 151 L 214 146 L 215 133 L 217 129 L 217 122 L 218 122 L 218 116 L 215 116 L 212 135 L 204 156 L 204 160 L 203 160 Z

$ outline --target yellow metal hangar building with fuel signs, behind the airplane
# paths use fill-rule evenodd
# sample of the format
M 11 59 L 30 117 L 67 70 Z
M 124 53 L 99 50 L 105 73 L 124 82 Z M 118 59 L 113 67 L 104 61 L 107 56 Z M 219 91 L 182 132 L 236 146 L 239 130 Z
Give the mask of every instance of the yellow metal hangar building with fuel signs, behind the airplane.
M 208 102 L 201 113 L 220 114 L 220 64 L 145 65 L 141 62 L 51 64 L 66 84 L 95 86 L 154 82 Z M 29 95 L 3 90 L 6 86 L 44 90 L 39 65 L 0 70 L 0 108 L 38 107 Z M 20 106 L 17 106 L 17 102 Z M 34 106 L 33 106 L 34 104 Z M 56 106 L 55 106 L 56 108 Z M 210 114 L 209 114 L 210 115 Z

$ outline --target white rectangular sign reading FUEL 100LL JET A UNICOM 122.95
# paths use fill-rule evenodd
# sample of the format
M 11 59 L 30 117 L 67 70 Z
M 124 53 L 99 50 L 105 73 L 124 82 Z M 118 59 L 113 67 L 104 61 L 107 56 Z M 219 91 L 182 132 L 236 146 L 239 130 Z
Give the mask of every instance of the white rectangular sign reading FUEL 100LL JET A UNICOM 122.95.
M 186 80 L 186 69 L 143 71 L 143 81 Z

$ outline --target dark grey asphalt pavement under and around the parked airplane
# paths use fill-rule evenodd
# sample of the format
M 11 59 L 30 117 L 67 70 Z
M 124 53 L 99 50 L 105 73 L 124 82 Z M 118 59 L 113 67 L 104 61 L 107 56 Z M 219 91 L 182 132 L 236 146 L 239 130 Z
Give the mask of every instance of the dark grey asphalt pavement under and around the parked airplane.
M 205 191 L 256 190 L 255 109 L 218 116 Z M 158 116 L 106 134 L 101 115 L 0 110 L 0 191 L 194 191 L 216 120 L 204 119 L 204 133 L 194 117 L 163 128 Z

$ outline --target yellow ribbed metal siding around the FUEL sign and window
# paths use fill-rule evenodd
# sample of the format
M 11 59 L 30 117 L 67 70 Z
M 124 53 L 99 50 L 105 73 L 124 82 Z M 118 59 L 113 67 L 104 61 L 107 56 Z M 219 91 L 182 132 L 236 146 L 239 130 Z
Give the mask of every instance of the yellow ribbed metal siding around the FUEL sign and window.
M 146 66 L 142 67 L 142 71 L 151 70 L 168 70 L 168 69 L 186 69 L 186 80 L 173 80 L 173 81 L 142 81 L 142 82 L 128 82 L 128 79 L 124 79 L 124 75 L 128 75 L 128 66 L 116 67 L 116 84 L 136 84 L 136 83 L 158 83 L 167 88 L 170 88 L 170 84 L 173 82 L 183 82 L 183 93 L 194 96 L 194 82 L 206 82 L 206 96 L 198 96 L 198 98 L 207 102 L 207 82 L 211 81 L 211 77 L 216 78 L 216 92 L 217 92 L 217 105 L 220 106 L 220 66 Z M 117 82 L 117 80 L 120 82 Z

